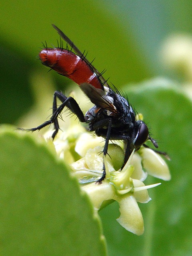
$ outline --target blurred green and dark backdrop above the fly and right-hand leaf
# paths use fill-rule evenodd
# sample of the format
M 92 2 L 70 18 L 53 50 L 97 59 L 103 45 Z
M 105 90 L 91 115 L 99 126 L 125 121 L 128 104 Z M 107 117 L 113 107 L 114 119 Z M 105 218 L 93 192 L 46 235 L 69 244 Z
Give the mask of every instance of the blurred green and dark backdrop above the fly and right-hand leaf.
M 33 72 L 45 74 L 38 61 L 41 42 L 46 40 L 51 47 L 59 39 L 52 23 L 80 50 L 88 51 L 89 60 L 96 58 L 96 68 L 106 68 L 105 77 L 119 88 L 153 76 L 175 76 L 162 65 L 159 51 L 170 34 L 190 32 L 190 5 L 187 1 L 2 1 L 0 122 L 15 123 L 32 106 Z M 51 73 L 55 88 L 69 83 Z

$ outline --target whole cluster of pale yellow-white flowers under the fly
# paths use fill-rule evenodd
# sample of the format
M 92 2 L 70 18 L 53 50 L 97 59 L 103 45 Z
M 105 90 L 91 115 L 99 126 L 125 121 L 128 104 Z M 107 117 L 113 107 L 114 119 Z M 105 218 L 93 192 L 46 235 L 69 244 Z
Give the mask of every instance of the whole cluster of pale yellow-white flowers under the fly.
M 137 152 L 132 152 L 120 170 L 124 160 L 122 142 L 109 144 L 108 155 L 103 160 L 104 139 L 86 132 L 76 120 L 71 119 L 71 122 L 68 130 L 59 132 L 54 140 L 57 154 L 70 164 L 72 175 L 78 178 L 96 211 L 115 200 L 120 207 L 120 217 L 117 219 L 120 225 L 134 234 L 143 234 L 144 222 L 138 202 L 149 202 L 151 198 L 147 189 L 160 184 L 145 186 L 143 182 L 148 174 L 170 180 L 166 162 L 152 149 L 142 146 Z M 45 135 L 46 138 L 50 137 L 50 132 Z M 102 176 L 103 161 L 106 179 L 98 184 L 96 181 Z

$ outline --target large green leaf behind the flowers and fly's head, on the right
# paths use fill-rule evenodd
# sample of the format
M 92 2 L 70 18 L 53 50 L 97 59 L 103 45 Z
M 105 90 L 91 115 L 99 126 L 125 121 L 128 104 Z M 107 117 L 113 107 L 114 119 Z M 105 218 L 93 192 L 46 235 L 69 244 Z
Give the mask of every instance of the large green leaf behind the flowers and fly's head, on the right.
M 191 255 L 192 252 L 192 102 L 171 83 L 148 81 L 127 90 L 131 104 L 144 115 L 159 150 L 166 151 L 172 178 L 148 190 L 152 200 L 139 204 L 144 217 L 144 235 L 137 237 L 116 224 L 119 211 L 111 204 L 100 211 L 110 256 Z M 151 144 L 149 144 L 152 146 Z

